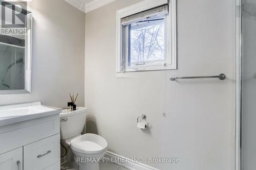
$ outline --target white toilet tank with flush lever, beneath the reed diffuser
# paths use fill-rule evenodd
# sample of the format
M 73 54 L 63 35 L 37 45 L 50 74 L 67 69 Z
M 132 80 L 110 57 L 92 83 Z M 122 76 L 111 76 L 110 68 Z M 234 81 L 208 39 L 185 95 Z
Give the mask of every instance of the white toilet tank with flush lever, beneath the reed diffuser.
M 86 124 L 87 108 L 77 107 L 74 111 L 62 110 L 60 113 L 60 139 L 79 135 Z

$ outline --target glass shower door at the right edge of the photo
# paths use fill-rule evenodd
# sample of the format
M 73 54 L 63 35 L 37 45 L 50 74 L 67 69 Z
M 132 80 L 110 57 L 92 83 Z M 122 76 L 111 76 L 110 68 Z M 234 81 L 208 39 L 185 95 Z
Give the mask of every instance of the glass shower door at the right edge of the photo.
M 256 168 L 256 1 L 242 5 L 242 170 Z

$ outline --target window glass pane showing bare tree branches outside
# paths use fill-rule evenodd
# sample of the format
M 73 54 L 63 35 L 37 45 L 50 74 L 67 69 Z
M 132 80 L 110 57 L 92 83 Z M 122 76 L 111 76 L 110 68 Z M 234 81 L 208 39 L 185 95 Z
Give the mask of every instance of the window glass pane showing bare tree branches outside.
M 164 60 L 164 20 L 137 22 L 131 29 L 131 64 Z

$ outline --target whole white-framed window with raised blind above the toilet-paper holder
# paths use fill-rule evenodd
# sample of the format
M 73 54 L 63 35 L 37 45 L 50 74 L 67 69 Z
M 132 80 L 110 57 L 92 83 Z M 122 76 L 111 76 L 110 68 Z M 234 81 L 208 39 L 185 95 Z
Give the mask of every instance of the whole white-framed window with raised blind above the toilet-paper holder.
M 117 11 L 117 72 L 176 69 L 175 1 Z

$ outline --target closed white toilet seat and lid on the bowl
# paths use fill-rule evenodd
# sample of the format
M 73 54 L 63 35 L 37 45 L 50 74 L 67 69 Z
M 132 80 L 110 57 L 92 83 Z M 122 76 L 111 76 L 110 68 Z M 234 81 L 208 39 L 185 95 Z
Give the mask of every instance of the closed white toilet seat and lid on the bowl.
M 96 134 L 87 133 L 70 141 L 73 151 L 82 154 L 99 154 L 105 152 L 108 147 L 106 140 Z

